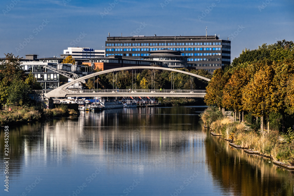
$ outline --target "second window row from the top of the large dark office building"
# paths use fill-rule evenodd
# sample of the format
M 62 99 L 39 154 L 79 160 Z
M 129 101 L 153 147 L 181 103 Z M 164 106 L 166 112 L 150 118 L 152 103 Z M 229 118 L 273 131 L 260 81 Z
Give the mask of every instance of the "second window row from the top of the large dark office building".
M 158 51 L 163 48 L 106 48 L 106 51 Z M 223 50 L 231 51 L 231 48 L 167 48 L 173 51 L 207 51 L 207 50 Z

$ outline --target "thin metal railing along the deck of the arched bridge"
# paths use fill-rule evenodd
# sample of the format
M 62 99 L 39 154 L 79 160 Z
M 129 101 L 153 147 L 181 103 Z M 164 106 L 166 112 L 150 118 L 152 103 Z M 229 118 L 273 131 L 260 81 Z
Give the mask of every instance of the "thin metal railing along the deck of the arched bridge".
M 187 94 L 187 93 L 206 93 L 206 90 L 171 90 L 171 89 L 66 89 L 70 93 L 177 93 L 177 94 Z

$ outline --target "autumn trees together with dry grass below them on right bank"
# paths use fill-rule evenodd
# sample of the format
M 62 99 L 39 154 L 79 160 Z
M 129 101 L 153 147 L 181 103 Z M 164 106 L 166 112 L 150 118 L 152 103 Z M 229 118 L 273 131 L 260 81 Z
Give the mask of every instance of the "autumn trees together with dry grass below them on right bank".
M 293 41 L 283 40 L 255 50 L 245 49 L 230 66 L 216 70 L 205 96 L 206 104 L 214 107 L 201 115 L 203 122 L 222 138 L 292 166 L 293 48 Z M 225 108 L 233 111 L 233 122 L 225 118 Z M 243 123 L 240 112 L 245 114 Z M 267 124 L 266 132 L 263 124 Z

